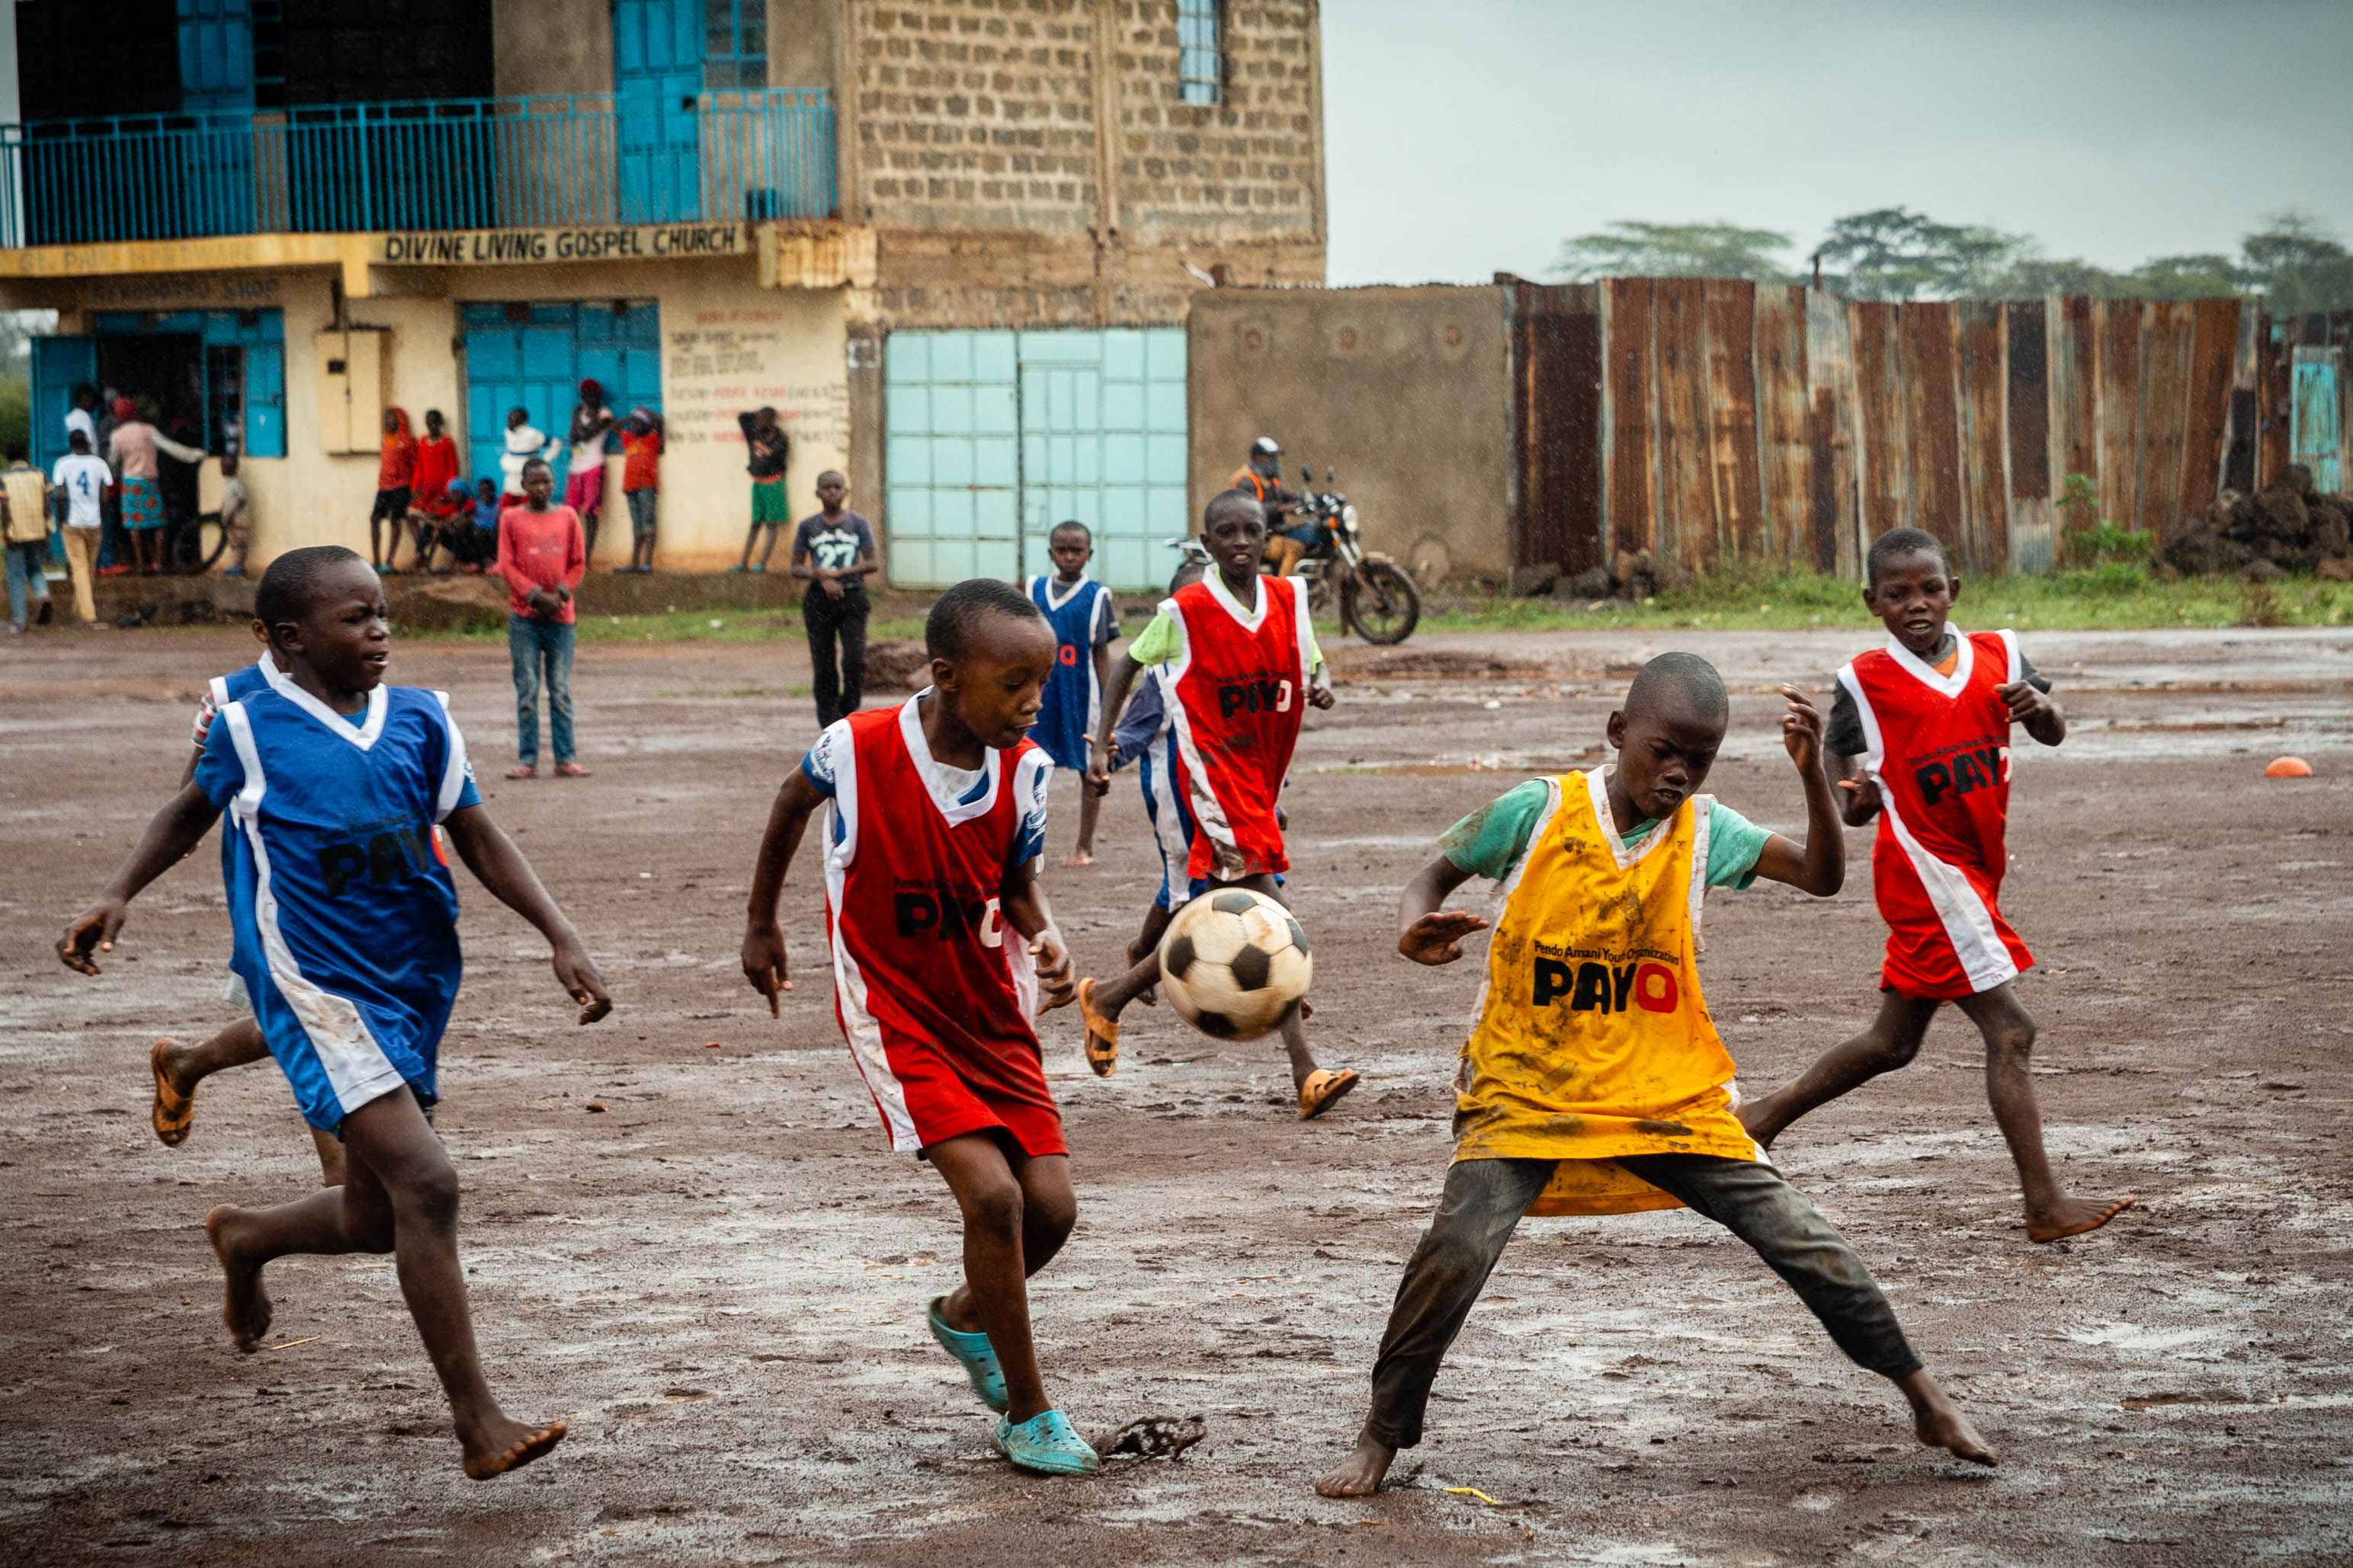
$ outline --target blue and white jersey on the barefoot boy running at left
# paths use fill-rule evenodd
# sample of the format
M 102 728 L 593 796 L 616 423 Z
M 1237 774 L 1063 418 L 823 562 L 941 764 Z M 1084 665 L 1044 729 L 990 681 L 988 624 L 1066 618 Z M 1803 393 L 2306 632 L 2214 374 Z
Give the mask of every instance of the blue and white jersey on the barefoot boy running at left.
M 226 811 L 231 969 L 304 1119 L 332 1133 L 402 1084 L 431 1105 L 464 969 L 438 825 L 482 799 L 447 693 L 376 686 L 344 717 L 268 682 L 221 708 L 195 783 Z

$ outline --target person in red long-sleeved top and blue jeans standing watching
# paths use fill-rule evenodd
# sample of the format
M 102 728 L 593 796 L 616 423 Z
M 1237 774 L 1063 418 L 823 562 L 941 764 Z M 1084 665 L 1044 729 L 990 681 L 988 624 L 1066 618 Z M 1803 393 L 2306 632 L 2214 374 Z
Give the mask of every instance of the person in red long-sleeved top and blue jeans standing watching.
M 569 505 L 548 505 L 555 470 L 546 458 L 522 465 L 522 505 L 499 512 L 499 578 L 506 583 L 506 651 L 515 661 L 515 766 L 508 778 L 539 778 L 539 686 L 548 689 L 555 776 L 586 778 L 572 759 L 572 592 L 588 574 L 588 541 Z

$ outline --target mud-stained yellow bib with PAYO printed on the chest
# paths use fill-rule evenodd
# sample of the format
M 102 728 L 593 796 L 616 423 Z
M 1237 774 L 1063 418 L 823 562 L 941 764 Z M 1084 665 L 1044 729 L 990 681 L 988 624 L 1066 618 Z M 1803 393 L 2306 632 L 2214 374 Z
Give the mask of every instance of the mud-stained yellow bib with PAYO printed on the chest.
M 1678 1208 L 1617 1157 L 1762 1159 L 1699 992 L 1711 799 L 1626 849 L 1600 769 L 1548 783 L 1454 1074 L 1454 1159 L 1562 1161 L 1529 1213 Z

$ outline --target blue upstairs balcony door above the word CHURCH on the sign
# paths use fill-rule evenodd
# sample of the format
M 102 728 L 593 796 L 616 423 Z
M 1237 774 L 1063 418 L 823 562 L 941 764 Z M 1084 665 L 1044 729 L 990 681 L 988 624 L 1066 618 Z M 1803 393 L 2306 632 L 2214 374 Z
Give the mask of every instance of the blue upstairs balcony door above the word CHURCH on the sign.
M 701 0 L 612 0 L 621 221 L 701 216 Z

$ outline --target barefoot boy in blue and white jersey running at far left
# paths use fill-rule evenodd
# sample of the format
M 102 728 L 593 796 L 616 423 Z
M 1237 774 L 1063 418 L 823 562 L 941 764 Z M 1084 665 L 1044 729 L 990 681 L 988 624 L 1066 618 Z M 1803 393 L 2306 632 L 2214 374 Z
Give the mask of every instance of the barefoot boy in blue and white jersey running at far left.
M 245 980 L 304 1119 L 344 1140 L 346 1180 L 275 1208 L 219 1206 L 221 1319 L 238 1349 L 271 1328 L 261 1269 L 289 1253 L 393 1253 L 400 1293 L 456 1418 L 466 1474 L 527 1465 L 562 1422 L 508 1418 L 482 1378 L 456 1260 L 456 1171 L 433 1135 L 435 1056 L 459 985 L 459 858 L 546 933 L 581 1023 L 612 1011 L 579 931 L 473 788 L 440 691 L 386 686 L 384 585 L 341 545 L 289 550 L 254 595 L 282 672 L 221 708 L 195 780 L 56 943 L 96 973 L 129 900 L 231 813 L 224 879 Z

